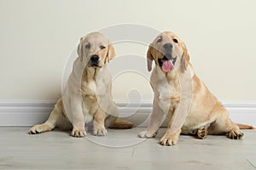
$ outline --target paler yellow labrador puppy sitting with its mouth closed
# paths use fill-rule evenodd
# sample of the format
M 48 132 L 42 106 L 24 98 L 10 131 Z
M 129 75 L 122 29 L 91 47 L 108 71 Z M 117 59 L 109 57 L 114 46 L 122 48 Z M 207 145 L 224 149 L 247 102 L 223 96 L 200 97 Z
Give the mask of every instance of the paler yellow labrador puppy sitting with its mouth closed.
M 113 45 L 99 32 L 81 37 L 79 57 L 67 87 L 43 124 L 30 128 L 28 133 L 43 133 L 55 127 L 73 128 L 71 135 L 86 135 L 84 123 L 93 120 L 93 134 L 106 135 L 106 127 L 129 128 L 131 122 L 119 121 L 118 108 L 111 94 L 111 76 L 108 62 L 115 56 Z M 110 115 L 111 114 L 111 115 Z

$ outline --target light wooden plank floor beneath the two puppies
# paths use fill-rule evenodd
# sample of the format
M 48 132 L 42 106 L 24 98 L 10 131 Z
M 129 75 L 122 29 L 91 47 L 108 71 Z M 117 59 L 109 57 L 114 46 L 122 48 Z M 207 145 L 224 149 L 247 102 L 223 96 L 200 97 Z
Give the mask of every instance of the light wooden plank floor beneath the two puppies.
M 256 130 L 246 130 L 244 139 L 224 136 L 195 139 L 181 136 L 176 146 L 160 146 L 155 139 L 137 139 L 144 128 L 108 130 L 106 137 L 76 139 L 55 130 L 29 135 L 28 127 L 0 127 L 0 169 L 256 169 Z M 113 148 L 109 144 L 138 143 Z

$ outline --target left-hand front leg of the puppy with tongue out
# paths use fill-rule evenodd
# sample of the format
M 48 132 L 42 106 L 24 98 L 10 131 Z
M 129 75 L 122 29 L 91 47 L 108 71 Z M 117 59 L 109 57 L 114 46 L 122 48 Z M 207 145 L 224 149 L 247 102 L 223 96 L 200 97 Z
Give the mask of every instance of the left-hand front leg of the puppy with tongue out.
M 154 105 L 153 105 L 153 111 L 150 116 L 150 122 L 148 125 L 147 130 L 138 133 L 138 137 L 140 138 L 154 138 L 154 136 L 157 134 L 158 129 L 163 122 L 163 116 L 164 111 L 160 108 L 159 99 L 157 97 L 154 97 Z M 168 110 L 166 110 L 168 111 Z

